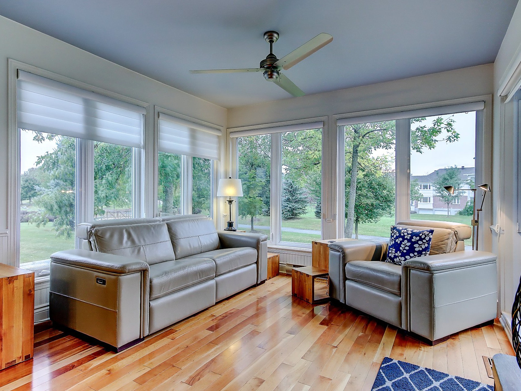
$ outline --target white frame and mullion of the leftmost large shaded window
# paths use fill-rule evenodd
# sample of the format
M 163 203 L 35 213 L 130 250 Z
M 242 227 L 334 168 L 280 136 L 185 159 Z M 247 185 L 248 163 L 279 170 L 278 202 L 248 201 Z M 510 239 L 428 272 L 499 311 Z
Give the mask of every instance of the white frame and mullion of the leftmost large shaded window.
M 86 91 L 92 91 L 97 94 L 105 95 L 110 98 L 115 98 L 135 106 L 145 108 L 148 113 L 148 104 L 138 99 L 133 99 L 115 92 L 111 92 L 94 85 L 83 83 L 75 79 L 70 79 L 63 75 L 46 71 L 44 69 L 24 64 L 23 62 L 9 59 L 8 60 L 8 182 L 10 184 L 8 191 L 8 243 L 7 243 L 7 256 L 6 263 L 20 267 L 26 270 L 32 270 L 35 273 L 35 278 L 45 277 L 49 274 L 49 263 L 50 259 L 24 262 L 20 264 L 20 130 L 17 127 L 17 73 L 18 70 L 34 73 L 36 75 L 52 79 L 61 83 L 69 84 L 74 87 Z M 143 116 L 142 122 L 142 140 L 143 147 L 135 148 L 141 149 L 141 155 L 139 158 L 133 159 L 135 163 L 142 162 L 143 156 L 145 156 L 147 148 L 150 147 L 146 139 L 147 129 L 147 115 Z M 133 154 L 134 155 L 134 154 Z M 137 154 L 138 155 L 138 154 Z M 146 164 L 146 163 L 145 163 Z M 146 205 L 146 194 L 144 193 L 144 172 L 147 167 L 142 165 L 141 170 L 133 170 L 133 190 L 139 189 L 139 195 L 142 202 L 140 205 L 132 205 L 133 213 L 134 208 L 138 210 L 138 213 L 143 215 L 143 205 Z M 139 176 L 139 178 L 134 178 Z M 80 187 L 80 186 L 82 187 Z M 76 211 L 75 218 L 76 224 L 84 221 L 88 221 L 90 216 L 94 218 L 94 142 L 90 140 L 83 140 L 76 138 Z M 81 191 L 80 191 L 81 188 Z M 134 201 L 134 195 L 133 195 Z M 79 241 L 76 240 L 76 247 L 79 248 Z

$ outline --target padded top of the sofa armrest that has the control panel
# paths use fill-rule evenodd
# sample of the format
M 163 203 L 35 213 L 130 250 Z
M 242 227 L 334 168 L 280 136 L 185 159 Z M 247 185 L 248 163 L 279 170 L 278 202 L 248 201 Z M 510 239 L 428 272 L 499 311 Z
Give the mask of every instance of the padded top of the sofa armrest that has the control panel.
M 148 271 L 148 263 L 135 258 L 89 250 L 64 250 L 51 255 L 51 260 L 69 266 L 96 270 L 104 273 L 127 274 Z

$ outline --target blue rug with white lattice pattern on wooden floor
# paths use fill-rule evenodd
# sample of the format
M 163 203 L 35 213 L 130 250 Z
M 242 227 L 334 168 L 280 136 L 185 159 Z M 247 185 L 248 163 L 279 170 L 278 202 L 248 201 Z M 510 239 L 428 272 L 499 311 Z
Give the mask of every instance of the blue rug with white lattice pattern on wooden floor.
M 371 391 L 494 391 L 494 386 L 386 357 Z

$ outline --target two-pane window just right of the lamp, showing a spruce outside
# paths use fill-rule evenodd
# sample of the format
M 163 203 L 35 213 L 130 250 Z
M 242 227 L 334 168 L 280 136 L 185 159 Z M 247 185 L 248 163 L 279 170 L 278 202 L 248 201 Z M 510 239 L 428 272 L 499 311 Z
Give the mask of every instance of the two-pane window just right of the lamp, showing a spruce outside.
M 255 132 L 231 134 L 244 192 L 239 229 L 277 245 L 309 246 L 321 238 L 322 122 Z

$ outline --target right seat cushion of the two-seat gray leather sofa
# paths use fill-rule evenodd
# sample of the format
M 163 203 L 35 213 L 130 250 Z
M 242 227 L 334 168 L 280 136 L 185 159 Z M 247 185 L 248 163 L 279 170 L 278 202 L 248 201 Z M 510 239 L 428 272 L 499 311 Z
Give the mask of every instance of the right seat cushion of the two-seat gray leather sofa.
M 215 275 L 221 275 L 257 262 L 257 250 L 251 247 L 221 248 L 192 255 L 188 258 L 195 257 L 213 259 L 215 262 Z

